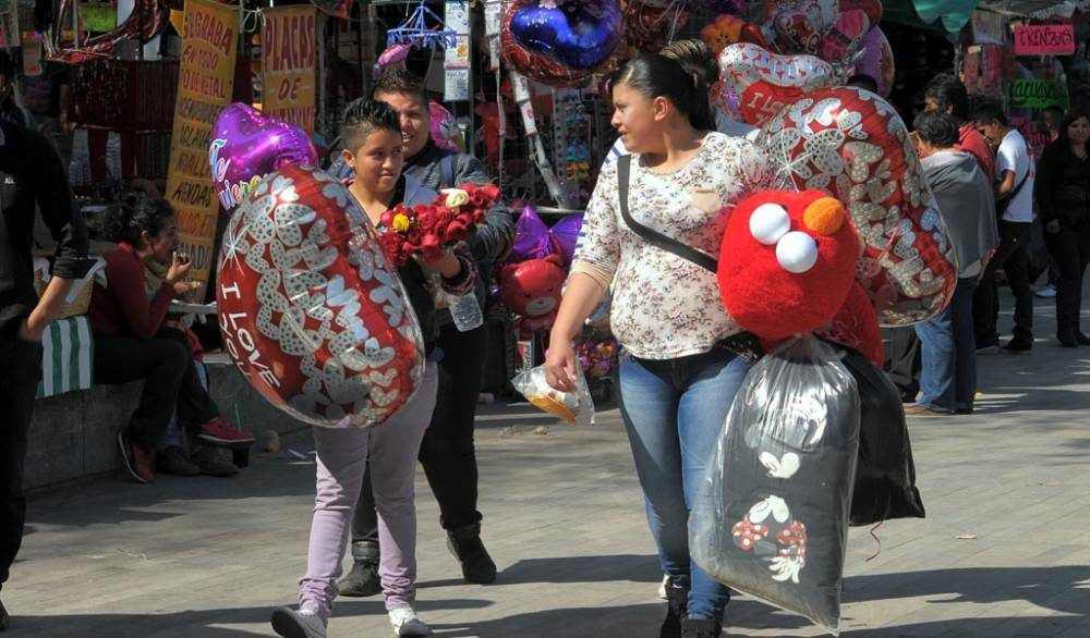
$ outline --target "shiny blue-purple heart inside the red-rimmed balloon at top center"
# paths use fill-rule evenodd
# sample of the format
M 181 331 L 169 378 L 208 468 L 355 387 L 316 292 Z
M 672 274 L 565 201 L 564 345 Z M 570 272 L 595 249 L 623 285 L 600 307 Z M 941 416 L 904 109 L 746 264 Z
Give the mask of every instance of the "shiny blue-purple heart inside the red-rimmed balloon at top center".
M 520 9 L 511 19 L 511 34 L 526 50 L 581 71 L 597 68 L 617 50 L 623 30 L 617 0 L 542 4 Z

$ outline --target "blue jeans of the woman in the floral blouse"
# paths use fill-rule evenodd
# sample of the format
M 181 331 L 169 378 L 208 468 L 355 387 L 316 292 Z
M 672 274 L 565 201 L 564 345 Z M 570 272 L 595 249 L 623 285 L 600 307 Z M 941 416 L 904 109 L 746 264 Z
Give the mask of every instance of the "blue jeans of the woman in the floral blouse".
M 689 511 L 723 432 L 746 361 L 716 348 L 677 359 L 626 357 L 621 416 L 646 500 L 647 523 L 663 570 L 689 588 L 689 617 L 720 619 L 727 588 L 689 557 Z

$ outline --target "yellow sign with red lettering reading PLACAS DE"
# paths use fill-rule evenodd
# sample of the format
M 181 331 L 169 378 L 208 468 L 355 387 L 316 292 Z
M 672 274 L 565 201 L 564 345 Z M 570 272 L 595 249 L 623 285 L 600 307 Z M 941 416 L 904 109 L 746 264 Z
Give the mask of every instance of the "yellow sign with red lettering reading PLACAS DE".
M 262 14 L 262 112 L 314 135 L 318 10 L 276 7 Z

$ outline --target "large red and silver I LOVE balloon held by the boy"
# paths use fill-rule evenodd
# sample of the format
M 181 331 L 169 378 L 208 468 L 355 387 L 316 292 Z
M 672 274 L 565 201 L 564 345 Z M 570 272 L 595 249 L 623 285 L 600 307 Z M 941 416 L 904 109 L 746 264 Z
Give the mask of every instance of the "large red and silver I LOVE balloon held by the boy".
M 324 427 L 380 424 L 420 385 L 423 339 L 348 188 L 269 174 L 228 222 L 216 290 L 223 343 L 272 405 Z

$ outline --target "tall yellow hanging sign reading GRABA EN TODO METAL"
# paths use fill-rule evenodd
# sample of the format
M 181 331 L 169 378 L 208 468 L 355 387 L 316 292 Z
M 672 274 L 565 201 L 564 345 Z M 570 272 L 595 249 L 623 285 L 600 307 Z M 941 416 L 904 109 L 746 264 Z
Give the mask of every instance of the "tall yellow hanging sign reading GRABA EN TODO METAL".
M 208 138 L 219 112 L 231 103 L 238 21 L 237 7 L 185 1 L 167 198 L 178 211 L 179 250 L 193 260 L 190 275 L 202 282 L 202 291 L 211 270 L 219 214 Z

